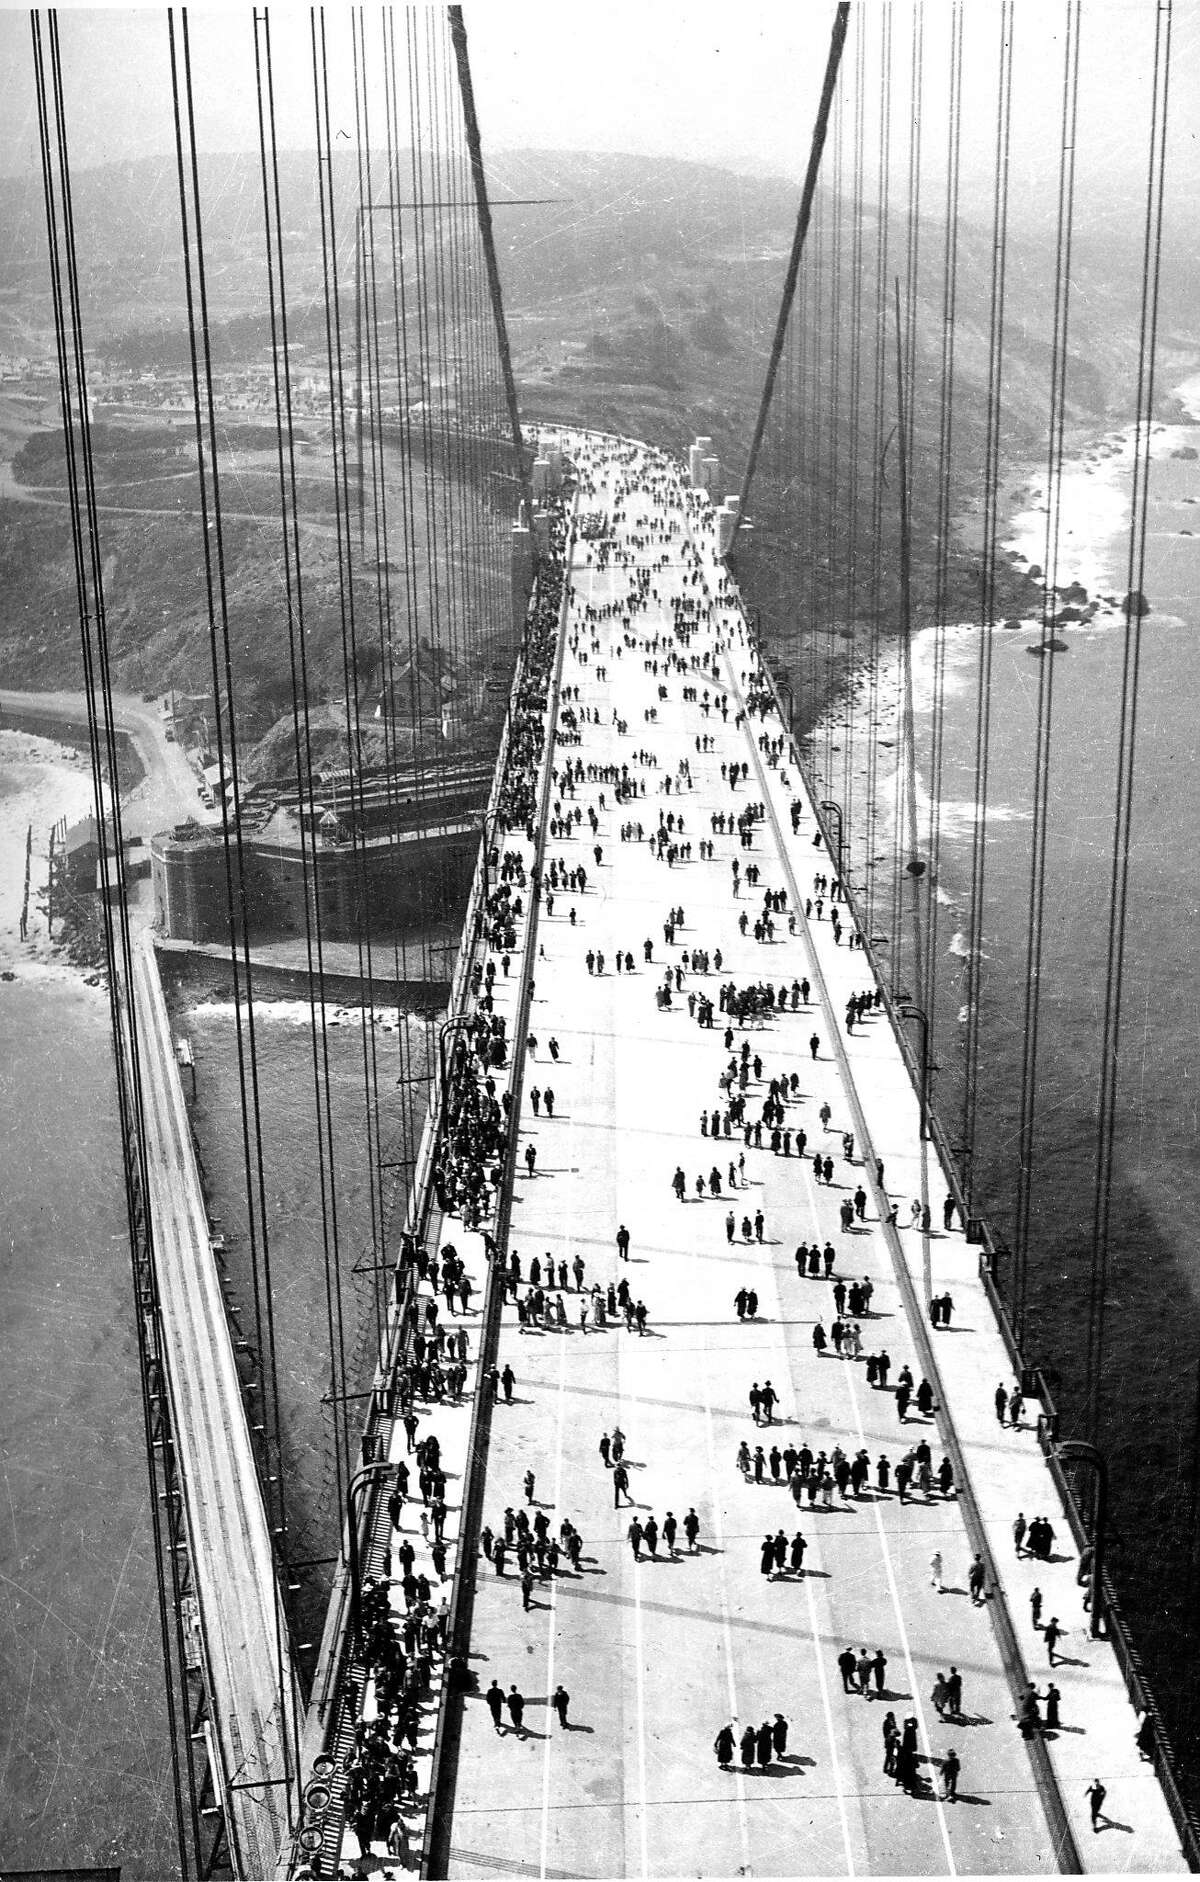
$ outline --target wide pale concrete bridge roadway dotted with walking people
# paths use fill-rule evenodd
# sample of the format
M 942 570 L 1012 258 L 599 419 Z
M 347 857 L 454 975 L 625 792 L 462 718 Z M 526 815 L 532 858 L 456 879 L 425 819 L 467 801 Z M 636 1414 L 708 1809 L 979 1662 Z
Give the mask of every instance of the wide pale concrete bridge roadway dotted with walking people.
M 624 482 L 621 452 L 579 440 L 594 459 L 596 489 L 587 484 L 581 510 L 611 512 Z M 587 1295 L 564 1293 L 566 1331 L 521 1325 L 515 1304 L 504 1306 L 497 1366 L 512 1366 L 512 1404 L 500 1396 L 491 1415 L 483 1519 L 502 1528 L 504 1509 L 523 1502 L 525 1472 L 534 1472 L 532 1500 L 545 1509 L 551 1534 L 564 1517 L 583 1536 L 581 1573 L 538 1581 L 523 1609 L 519 1579 L 502 1577 L 480 1556 L 470 1634 L 480 1696 L 465 1709 L 453 1780 L 450 1873 L 487 1876 L 617 1874 L 948 1874 L 1091 1871 L 1181 1873 L 1185 1863 L 1164 1797 L 1151 1767 L 1134 1748 L 1136 1718 L 1108 1645 L 1087 1639 L 1076 1585 L 1074 1549 L 1065 1513 L 1027 1417 L 1019 1430 L 1001 1428 L 993 1412 L 997 1381 L 1012 1383 L 1001 1334 L 989 1316 L 976 1255 L 959 1231 L 942 1233 L 944 1186 L 920 1140 L 918 1105 L 903 1056 L 886 1018 L 873 1014 L 846 1033 L 848 992 L 871 986 L 867 956 L 835 945 L 828 918 L 803 915 L 813 875 L 833 873 L 814 845 L 814 817 L 790 755 L 771 757 L 760 738 L 781 738 L 769 713 L 741 723 L 752 687 L 754 651 L 730 593 L 705 610 L 685 651 L 698 672 L 664 664 L 666 649 L 647 653 L 643 640 L 671 638 L 670 600 L 698 595 L 702 570 L 709 597 L 722 568 L 715 559 L 707 499 L 685 497 L 673 482 L 660 491 L 671 512 L 668 566 L 664 546 L 647 542 L 647 523 L 660 512 L 638 495 L 649 459 L 630 457 L 632 489 L 623 495 L 624 521 L 615 529 L 628 561 L 602 566 L 596 546 L 576 548 L 576 597 L 568 619 L 559 698 L 559 777 L 579 758 L 585 766 L 630 766 L 645 796 L 613 800 L 611 783 L 579 783 L 574 798 L 551 792 L 561 813 L 589 805 L 598 815 L 566 839 L 551 834 L 545 860 L 587 868 L 587 890 L 544 898 L 532 933 L 523 941 L 534 975 L 529 1050 L 517 1054 L 519 1146 L 508 1252 L 519 1252 L 523 1274 L 534 1257 L 585 1261 L 585 1289 L 628 1278 L 647 1304 L 645 1336 L 623 1321 L 579 1329 Z M 651 480 L 662 478 L 651 465 Z M 694 546 L 694 550 L 692 550 Z M 698 563 L 692 561 L 692 553 Z M 634 565 L 653 566 L 658 598 L 632 617 L 630 636 L 613 619 L 596 627 L 589 606 L 623 604 Z M 634 644 L 630 644 L 630 640 Z M 658 657 L 660 672 L 647 670 Z M 718 683 L 703 678 L 717 662 Z M 666 698 L 658 687 L 666 687 Z M 698 693 L 724 693 L 728 719 L 705 717 Z M 574 696 L 577 689 L 577 700 Z M 579 742 L 562 738 L 564 711 L 581 710 Z M 594 719 L 592 719 L 594 713 Z M 649 721 L 647 713 L 655 713 Z M 696 740 L 711 738 L 698 753 Z M 656 764 L 647 764 L 653 753 Z M 681 760 L 690 789 L 675 790 Z M 730 789 L 732 764 L 747 779 Z M 664 785 L 671 777 L 671 792 Z M 600 802 L 604 798 L 604 802 Z M 762 804 L 749 849 L 734 834 L 713 834 L 718 809 L 734 813 Z M 799 828 L 792 834 L 792 805 Z M 656 860 L 649 841 L 623 841 L 621 826 L 641 822 L 645 836 L 660 813 L 685 817 L 690 856 L 673 866 Z M 713 858 L 702 860 L 700 839 Z M 820 839 L 816 839 L 820 845 Z M 602 849 L 596 864 L 592 843 Z M 529 845 L 510 837 L 506 847 Z M 732 860 L 743 868 L 743 890 L 732 888 Z M 745 886 L 754 864 L 760 883 Z M 788 913 L 775 935 L 756 941 L 739 932 L 762 907 L 764 888 L 784 890 Z M 664 939 L 671 907 L 683 907 L 673 941 Z M 574 920 L 572 920 L 574 911 Z M 828 917 L 828 909 L 822 911 Z M 645 962 L 643 941 L 653 943 Z M 722 952 L 722 969 L 683 969 L 685 952 Z M 604 971 L 589 971 L 587 952 L 602 950 Z M 630 973 L 615 973 L 617 950 L 632 954 Z M 536 956 L 536 958 L 534 958 Z M 683 969 L 670 1011 L 656 1001 L 666 967 Z M 750 1073 L 749 1116 L 766 1095 L 766 1080 L 796 1073 L 799 1090 L 786 1122 L 809 1133 L 833 1157 L 833 1184 L 814 1182 L 811 1161 L 745 1148 L 741 1133 L 720 1146 L 702 1135 L 700 1114 L 722 1103 L 718 1078 L 730 1061 L 724 1014 L 702 1029 L 688 1014 L 688 994 L 717 1001 L 722 981 L 811 982 L 797 1011 L 775 1013 L 749 1029 L 735 1028 L 750 1060 L 762 1054 L 762 1078 Z M 497 1009 L 517 1022 L 521 960 L 510 977 L 497 975 Z M 811 1037 L 816 1035 L 816 1056 Z M 559 1056 L 553 1058 L 549 1041 Z M 532 1107 L 532 1088 L 553 1088 L 553 1118 Z M 829 1105 L 828 1127 L 822 1107 Z M 843 1133 L 854 1131 L 852 1159 Z M 767 1133 L 769 1137 L 769 1133 Z M 534 1152 L 527 1172 L 525 1152 Z M 745 1174 L 728 1193 L 728 1165 L 745 1150 Z M 884 1161 L 884 1180 L 875 1159 Z M 696 1195 L 696 1176 L 713 1163 L 722 1195 Z M 681 1167 L 687 1199 L 677 1201 L 671 1174 Z M 867 1191 L 861 1221 L 843 1233 L 839 1206 L 858 1186 Z M 927 1195 L 935 1229 L 910 1227 L 910 1199 Z M 899 1220 L 888 1221 L 899 1199 Z M 735 1235 L 726 1238 L 726 1210 Z M 764 1214 L 764 1238 L 745 1238 L 741 1218 Z M 615 1235 L 630 1231 L 630 1261 L 619 1259 Z M 476 1276 L 482 1244 L 463 1223 L 442 1223 Z M 886 1348 L 892 1385 L 908 1364 L 920 1381 L 929 1374 L 939 1408 L 929 1419 L 914 1410 L 901 1425 L 893 1391 L 867 1385 L 865 1366 L 831 1353 L 818 1357 L 813 1327 L 829 1329 L 831 1284 L 801 1280 L 797 1242 L 833 1242 L 833 1278 L 873 1282 L 871 1314 L 860 1317 L 863 1353 Z M 933 1334 L 918 1302 L 925 1263 L 937 1291 L 955 1302 L 952 1331 Z M 758 1314 L 739 1321 L 734 1295 L 754 1287 Z M 468 1323 L 478 1317 L 472 1314 Z M 472 1357 L 474 1357 L 472 1336 Z M 771 1434 L 756 1430 L 747 1393 L 771 1380 L 779 1415 Z M 630 1492 L 638 1515 L 662 1523 L 688 1507 L 700 1517 L 700 1549 L 683 1536 L 671 1556 L 660 1543 L 655 1558 L 634 1560 L 626 1539 L 632 1509 L 613 1507 L 613 1475 L 598 1455 L 604 1430 L 626 1434 Z M 433 1406 L 421 1428 L 442 1440 L 451 1483 L 448 1536 L 459 1547 L 457 1487 L 466 1460 L 466 1410 Z M 848 1457 L 867 1449 L 873 1466 L 886 1455 L 895 1466 L 925 1438 L 933 1462 L 950 1453 L 965 1494 L 922 1494 L 899 1502 L 895 1489 L 843 1500 L 818 1498 L 801 1507 L 786 1487 L 747 1481 L 737 1468 L 743 1440 Z M 393 1455 L 403 1455 L 397 1430 Z M 871 1485 L 875 1485 L 875 1468 Z M 1012 1519 L 1048 1513 L 1057 1530 L 1051 1562 L 1014 1560 Z M 427 1568 L 416 1519 L 403 1526 Z M 807 1538 L 805 1573 L 767 1579 L 760 1571 L 766 1534 L 799 1528 Z M 987 1596 L 967 1592 L 976 1549 L 987 1556 Z M 931 1556 L 940 1553 L 944 1587 L 937 1588 Z M 465 1573 L 472 1568 L 466 1566 Z M 999 1579 L 997 1579 L 999 1575 Z M 1044 1613 L 1068 1630 L 1061 1664 L 1048 1667 L 1042 1637 L 1029 1624 L 1034 1581 Z M 399 1600 L 399 1590 L 397 1596 Z M 886 1654 L 880 1698 L 843 1690 L 837 1654 L 865 1647 Z M 931 1686 L 955 1666 L 963 1709 L 939 1718 Z M 1063 1694 L 1063 1724 L 1034 1746 L 1014 1724 L 1016 1696 L 1027 1675 L 1046 1690 L 1053 1677 Z M 512 1683 L 527 1699 L 525 1735 L 493 1731 L 483 1688 Z M 549 1696 L 570 1692 L 570 1730 L 562 1731 Z M 775 1713 L 790 1722 L 784 1758 L 766 1773 L 720 1771 L 713 1754 L 717 1730 L 737 1720 L 758 1726 Z M 914 1795 L 882 1773 L 882 1718 L 893 1711 L 918 1724 L 922 1784 Z M 371 1707 L 369 1707 L 371 1713 Z M 954 1746 L 961 1758 L 957 1801 L 942 1797 L 940 1760 Z M 429 1748 L 421 1735 L 419 1754 Z M 1093 1833 L 1083 1795 L 1095 1775 L 1108 1786 L 1112 1822 Z M 348 1833 L 346 1856 L 357 1844 Z M 369 1863 L 367 1873 L 374 1873 Z

